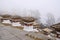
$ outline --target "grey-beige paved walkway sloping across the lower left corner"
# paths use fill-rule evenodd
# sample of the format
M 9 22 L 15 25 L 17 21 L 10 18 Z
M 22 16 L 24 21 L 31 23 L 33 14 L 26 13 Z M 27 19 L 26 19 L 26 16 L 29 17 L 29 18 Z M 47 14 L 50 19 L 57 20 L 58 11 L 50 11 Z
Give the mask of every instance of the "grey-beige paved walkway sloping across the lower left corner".
M 0 26 L 0 40 L 33 40 L 25 36 L 27 32 L 11 28 L 9 26 Z

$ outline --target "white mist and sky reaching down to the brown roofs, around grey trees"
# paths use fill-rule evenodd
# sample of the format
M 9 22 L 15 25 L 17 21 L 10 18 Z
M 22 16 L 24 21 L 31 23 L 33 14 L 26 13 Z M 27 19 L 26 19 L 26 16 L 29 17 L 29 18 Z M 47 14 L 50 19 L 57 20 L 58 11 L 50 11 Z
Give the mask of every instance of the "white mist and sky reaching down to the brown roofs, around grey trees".
M 41 21 L 45 23 L 48 13 L 55 19 L 60 17 L 60 0 L 0 0 L 2 14 L 31 16 L 29 10 L 39 10 Z

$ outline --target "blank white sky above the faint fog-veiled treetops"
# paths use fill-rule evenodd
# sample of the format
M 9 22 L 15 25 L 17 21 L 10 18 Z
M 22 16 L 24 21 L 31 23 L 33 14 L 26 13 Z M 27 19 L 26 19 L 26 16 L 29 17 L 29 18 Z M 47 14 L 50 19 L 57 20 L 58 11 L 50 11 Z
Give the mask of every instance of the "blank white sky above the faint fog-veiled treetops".
M 60 17 L 60 0 L 0 0 L 0 11 L 38 9 L 43 20 L 47 13 Z

